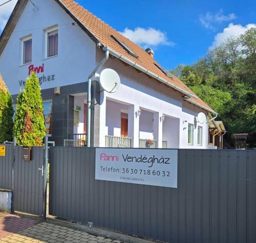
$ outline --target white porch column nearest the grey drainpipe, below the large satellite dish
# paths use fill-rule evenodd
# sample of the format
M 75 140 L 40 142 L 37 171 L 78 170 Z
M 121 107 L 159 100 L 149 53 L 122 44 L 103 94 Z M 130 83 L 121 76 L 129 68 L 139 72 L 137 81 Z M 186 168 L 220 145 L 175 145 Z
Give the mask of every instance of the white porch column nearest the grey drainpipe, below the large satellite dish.
M 99 112 L 99 147 L 105 147 L 105 127 L 106 127 L 106 96 L 104 91 L 100 93 Z

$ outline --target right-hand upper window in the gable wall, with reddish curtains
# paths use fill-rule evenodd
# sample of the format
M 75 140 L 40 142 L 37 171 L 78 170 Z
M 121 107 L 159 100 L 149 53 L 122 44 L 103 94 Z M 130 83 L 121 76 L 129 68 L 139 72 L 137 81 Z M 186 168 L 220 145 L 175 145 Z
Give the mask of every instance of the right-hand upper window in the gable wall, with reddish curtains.
M 58 55 L 58 29 L 50 29 L 46 31 L 47 39 L 47 55 L 46 57 L 54 57 Z

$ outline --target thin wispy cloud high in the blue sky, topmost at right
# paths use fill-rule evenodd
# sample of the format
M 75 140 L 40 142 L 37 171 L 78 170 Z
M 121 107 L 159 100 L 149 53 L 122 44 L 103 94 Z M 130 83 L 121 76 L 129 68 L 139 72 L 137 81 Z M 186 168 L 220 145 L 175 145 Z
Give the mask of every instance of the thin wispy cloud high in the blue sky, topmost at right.
M 234 13 L 230 13 L 228 15 L 224 15 L 222 9 L 216 13 L 212 14 L 211 12 L 207 12 L 204 15 L 200 15 L 199 21 L 201 24 L 206 28 L 210 30 L 215 30 L 215 25 L 218 23 L 222 23 L 224 21 L 230 21 L 237 18 L 237 15 Z

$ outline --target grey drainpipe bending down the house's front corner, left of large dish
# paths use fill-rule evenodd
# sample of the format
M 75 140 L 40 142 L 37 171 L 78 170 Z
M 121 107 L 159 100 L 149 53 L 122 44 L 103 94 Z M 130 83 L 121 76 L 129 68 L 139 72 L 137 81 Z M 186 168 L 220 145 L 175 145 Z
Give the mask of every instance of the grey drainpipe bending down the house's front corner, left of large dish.
M 91 147 L 91 87 L 92 87 L 92 77 L 98 71 L 98 69 L 109 59 L 109 50 L 103 47 L 105 56 L 100 61 L 100 63 L 94 68 L 92 73 L 88 76 L 88 90 L 87 90 L 87 147 Z

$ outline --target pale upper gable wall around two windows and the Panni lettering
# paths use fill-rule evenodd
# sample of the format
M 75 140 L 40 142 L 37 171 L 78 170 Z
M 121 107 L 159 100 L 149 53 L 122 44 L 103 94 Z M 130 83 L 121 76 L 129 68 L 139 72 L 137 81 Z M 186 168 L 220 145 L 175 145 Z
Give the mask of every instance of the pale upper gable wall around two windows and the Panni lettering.
M 51 88 L 87 81 L 96 65 L 95 43 L 61 7 L 52 0 L 34 0 L 39 11 L 33 12 L 28 4 L 20 17 L 2 55 L 2 74 L 11 94 L 19 92 L 19 81 L 28 77 L 30 64 L 22 65 L 21 40 L 32 34 L 32 64 L 44 63 L 44 75 L 55 75 L 55 81 L 42 83 L 41 88 Z M 46 59 L 44 29 L 58 25 L 58 56 Z M 42 74 L 38 74 L 38 77 Z M 22 86 L 23 88 L 23 86 Z

